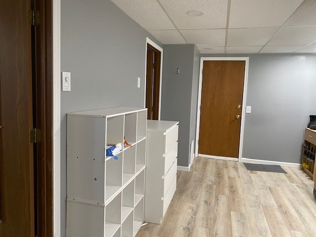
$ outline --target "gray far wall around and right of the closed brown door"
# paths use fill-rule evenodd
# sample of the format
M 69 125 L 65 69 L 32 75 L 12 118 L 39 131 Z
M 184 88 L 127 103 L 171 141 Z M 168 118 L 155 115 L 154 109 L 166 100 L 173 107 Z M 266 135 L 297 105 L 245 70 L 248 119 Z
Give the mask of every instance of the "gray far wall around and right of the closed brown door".
M 300 163 L 304 128 L 316 114 L 316 55 L 250 54 L 242 158 Z

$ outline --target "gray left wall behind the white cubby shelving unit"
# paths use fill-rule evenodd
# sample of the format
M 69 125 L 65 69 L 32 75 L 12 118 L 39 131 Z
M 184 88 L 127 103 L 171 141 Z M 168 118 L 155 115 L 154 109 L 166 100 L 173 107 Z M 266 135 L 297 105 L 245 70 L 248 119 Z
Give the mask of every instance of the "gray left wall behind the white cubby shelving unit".
M 61 231 L 66 217 L 66 113 L 144 106 L 145 37 L 157 42 L 110 0 L 61 1 Z M 141 88 L 137 88 L 137 77 Z

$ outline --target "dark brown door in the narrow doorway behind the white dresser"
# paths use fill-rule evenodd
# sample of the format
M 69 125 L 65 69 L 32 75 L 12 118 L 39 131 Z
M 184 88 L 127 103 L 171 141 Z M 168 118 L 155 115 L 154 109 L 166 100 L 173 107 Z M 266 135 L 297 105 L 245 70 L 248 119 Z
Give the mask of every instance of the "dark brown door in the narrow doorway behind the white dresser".
M 160 90 L 160 55 L 161 52 L 147 44 L 146 63 L 146 108 L 147 119 L 158 120 Z

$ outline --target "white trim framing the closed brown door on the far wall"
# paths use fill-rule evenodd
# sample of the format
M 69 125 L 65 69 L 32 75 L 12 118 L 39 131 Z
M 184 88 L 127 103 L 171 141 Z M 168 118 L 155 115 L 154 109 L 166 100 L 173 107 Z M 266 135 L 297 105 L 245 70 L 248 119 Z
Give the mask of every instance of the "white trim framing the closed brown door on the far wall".
M 242 93 L 242 108 L 241 108 L 241 124 L 240 124 L 240 136 L 239 136 L 239 152 L 238 161 L 241 162 L 242 157 L 242 145 L 243 145 L 243 130 L 245 123 L 246 112 L 246 95 L 247 95 L 247 83 L 248 83 L 248 66 L 249 57 L 201 57 L 199 66 L 199 79 L 198 79 L 198 97 L 197 97 L 197 133 L 196 133 L 196 152 L 198 154 L 198 138 L 199 138 L 199 121 L 201 113 L 201 96 L 202 96 L 202 71 L 204 61 L 245 61 L 245 74 L 243 80 L 243 93 Z M 234 158 L 235 160 L 236 158 Z

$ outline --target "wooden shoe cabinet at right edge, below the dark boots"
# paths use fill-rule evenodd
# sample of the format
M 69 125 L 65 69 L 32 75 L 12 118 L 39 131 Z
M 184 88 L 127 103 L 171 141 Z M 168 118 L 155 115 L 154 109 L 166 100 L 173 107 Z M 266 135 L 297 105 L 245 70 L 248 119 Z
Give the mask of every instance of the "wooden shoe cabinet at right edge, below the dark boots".
M 315 181 L 316 130 L 305 128 L 302 170 Z

